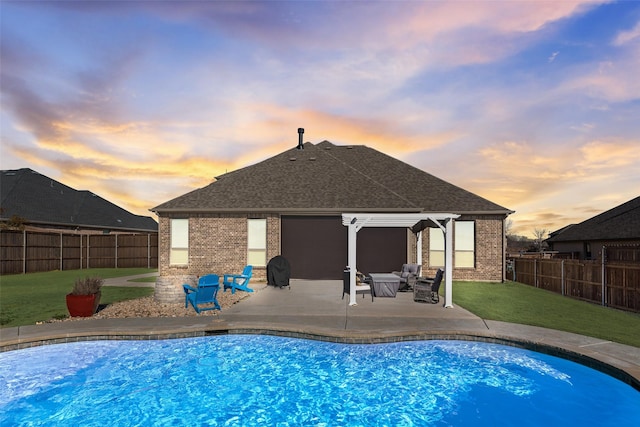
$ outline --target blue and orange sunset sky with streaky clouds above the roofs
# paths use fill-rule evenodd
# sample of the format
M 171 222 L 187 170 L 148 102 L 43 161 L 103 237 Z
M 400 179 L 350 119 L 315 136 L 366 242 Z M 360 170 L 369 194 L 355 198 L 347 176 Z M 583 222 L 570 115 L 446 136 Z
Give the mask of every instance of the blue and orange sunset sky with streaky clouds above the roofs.
M 1 169 L 136 214 L 298 127 L 514 210 L 528 237 L 640 195 L 640 2 L 2 0 L 0 17 Z

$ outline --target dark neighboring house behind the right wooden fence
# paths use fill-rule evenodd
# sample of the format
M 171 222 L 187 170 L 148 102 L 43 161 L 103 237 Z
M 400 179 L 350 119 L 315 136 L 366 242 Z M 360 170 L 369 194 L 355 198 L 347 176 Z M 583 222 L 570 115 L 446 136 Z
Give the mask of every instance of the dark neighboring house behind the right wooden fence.
M 546 242 L 560 256 L 575 259 L 599 259 L 603 246 L 640 246 L 640 197 L 554 231 Z

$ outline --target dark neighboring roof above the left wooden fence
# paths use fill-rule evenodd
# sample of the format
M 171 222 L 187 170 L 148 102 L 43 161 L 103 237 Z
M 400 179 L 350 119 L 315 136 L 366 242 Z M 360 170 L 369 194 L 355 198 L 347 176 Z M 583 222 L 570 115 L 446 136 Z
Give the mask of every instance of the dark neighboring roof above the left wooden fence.
M 31 224 L 157 232 L 149 216 L 134 215 L 89 191 L 78 191 L 31 169 L 0 171 L 0 218 Z

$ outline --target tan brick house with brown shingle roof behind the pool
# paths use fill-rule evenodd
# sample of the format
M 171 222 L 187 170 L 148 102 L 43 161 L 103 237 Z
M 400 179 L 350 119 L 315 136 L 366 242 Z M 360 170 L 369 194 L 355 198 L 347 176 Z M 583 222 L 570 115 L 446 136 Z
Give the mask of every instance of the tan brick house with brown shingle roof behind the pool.
M 348 252 L 342 214 L 353 212 L 459 215 L 453 277 L 501 281 L 504 219 L 512 213 L 372 148 L 303 144 L 301 134 L 298 147 L 151 210 L 159 217 L 160 276 L 176 283 L 245 264 L 264 278 L 267 262 L 279 254 L 293 278 L 340 279 Z M 424 275 L 435 273 L 444 263 L 445 239 L 437 224 L 427 227 L 421 236 L 407 227 L 363 228 L 358 269 L 390 272 L 418 262 Z

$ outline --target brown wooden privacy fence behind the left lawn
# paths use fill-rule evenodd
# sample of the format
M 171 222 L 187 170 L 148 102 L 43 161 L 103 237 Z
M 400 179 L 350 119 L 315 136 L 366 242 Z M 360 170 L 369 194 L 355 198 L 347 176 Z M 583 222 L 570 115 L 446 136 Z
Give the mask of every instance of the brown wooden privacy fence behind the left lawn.
M 158 267 L 157 233 L 0 231 L 0 275 L 127 267 Z

